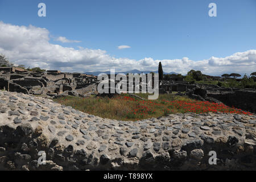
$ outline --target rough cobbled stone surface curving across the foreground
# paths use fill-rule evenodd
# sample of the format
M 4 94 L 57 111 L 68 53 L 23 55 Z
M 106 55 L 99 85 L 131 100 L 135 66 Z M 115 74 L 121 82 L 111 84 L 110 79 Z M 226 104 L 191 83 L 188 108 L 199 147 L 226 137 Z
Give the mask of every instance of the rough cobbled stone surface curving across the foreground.
M 230 113 L 117 121 L 0 92 L 0 169 L 256 169 L 255 126 L 255 115 Z M 39 151 L 46 164 L 38 164 Z

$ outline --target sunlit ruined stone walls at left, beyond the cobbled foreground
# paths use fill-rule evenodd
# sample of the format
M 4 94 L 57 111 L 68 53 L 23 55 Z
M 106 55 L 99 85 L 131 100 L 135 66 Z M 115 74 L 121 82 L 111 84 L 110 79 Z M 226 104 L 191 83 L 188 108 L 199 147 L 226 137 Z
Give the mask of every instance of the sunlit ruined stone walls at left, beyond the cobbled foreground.
M 94 94 L 97 77 L 60 71 L 30 72 L 22 68 L 1 67 L 0 89 L 50 97 Z

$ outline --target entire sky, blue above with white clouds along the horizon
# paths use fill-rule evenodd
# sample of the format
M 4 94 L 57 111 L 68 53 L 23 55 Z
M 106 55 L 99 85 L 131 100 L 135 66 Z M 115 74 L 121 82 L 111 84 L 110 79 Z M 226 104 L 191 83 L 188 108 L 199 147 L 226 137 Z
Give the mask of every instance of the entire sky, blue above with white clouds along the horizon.
M 46 17 L 38 4 L 46 4 Z M 215 2 L 217 17 L 209 17 Z M 0 0 L 0 53 L 65 72 L 256 71 L 256 1 Z

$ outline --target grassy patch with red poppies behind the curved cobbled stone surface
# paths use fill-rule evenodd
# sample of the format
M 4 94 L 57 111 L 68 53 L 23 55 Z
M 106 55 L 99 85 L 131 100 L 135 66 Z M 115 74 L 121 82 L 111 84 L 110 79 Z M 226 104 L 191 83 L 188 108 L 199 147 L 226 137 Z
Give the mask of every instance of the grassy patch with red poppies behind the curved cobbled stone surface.
M 102 118 L 120 119 L 123 121 L 137 121 L 151 117 L 161 117 L 175 113 L 237 113 L 248 114 L 235 107 L 216 104 L 208 101 L 196 101 L 187 97 L 160 95 L 158 100 L 140 100 L 121 94 L 113 98 L 102 97 L 64 97 L 55 100 L 60 104 L 72 106 L 85 113 L 98 115 Z

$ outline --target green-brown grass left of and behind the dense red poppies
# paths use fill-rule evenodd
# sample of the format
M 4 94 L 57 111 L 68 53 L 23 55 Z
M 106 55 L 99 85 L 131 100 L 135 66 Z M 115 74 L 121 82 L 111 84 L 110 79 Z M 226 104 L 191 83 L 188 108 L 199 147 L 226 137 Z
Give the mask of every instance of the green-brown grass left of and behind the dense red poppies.
M 147 99 L 148 94 L 137 94 L 139 97 Z M 125 98 L 128 98 L 125 100 Z M 171 113 L 178 113 L 172 106 L 167 106 L 166 101 L 193 101 L 187 96 L 175 96 L 174 94 L 160 94 L 158 100 L 139 100 L 137 97 L 121 94 L 113 98 L 108 97 L 61 97 L 53 99 L 65 106 L 71 106 L 74 109 L 84 113 L 97 115 L 102 118 L 119 119 L 123 121 L 137 121 L 151 117 L 161 117 Z M 138 110 L 137 110 L 138 109 Z M 136 112 L 134 112 L 136 110 Z M 170 111 L 172 110 L 172 111 Z M 135 114 L 134 114 L 135 113 Z

